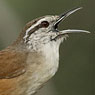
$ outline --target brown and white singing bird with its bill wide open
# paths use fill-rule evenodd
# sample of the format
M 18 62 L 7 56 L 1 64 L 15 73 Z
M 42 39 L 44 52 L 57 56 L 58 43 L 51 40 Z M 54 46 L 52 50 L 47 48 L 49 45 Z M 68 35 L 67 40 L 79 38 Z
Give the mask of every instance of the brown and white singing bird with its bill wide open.
M 59 67 L 59 47 L 69 33 L 59 24 L 81 7 L 61 15 L 46 15 L 28 22 L 18 38 L 0 51 L 0 95 L 34 95 Z

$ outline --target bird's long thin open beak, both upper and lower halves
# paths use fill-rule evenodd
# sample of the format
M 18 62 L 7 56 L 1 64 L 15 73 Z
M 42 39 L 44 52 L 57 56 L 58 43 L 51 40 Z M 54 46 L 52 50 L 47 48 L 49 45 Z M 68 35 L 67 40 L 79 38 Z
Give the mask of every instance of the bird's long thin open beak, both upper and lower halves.
M 63 21 L 65 18 L 67 18 L 69 15 L 71 15 L 72 13 L 78 11 L 82 9 L 82 7 L 79 7 L 79 8 L 74 8 L 74 9 L 71 9 L 65 13 L 63 13 L 62 15 L 59 16 L 59 19 L 56 21 L 56 23 L 54 24 L 54 29 L 58 32 L 60 32 L 60 34 L 68 34 L 68 33 L 79 33 L 79 32 L 85 32 L 85 33 L 90 33 L 89 31 L 86 31 L 86 30 L 77 30 L 77 29 L 68 29 L 68 30 L 62 30 L 62 31 L 59 31 L 58 30 L 58 25 L 60 24 L 61 21 Z

